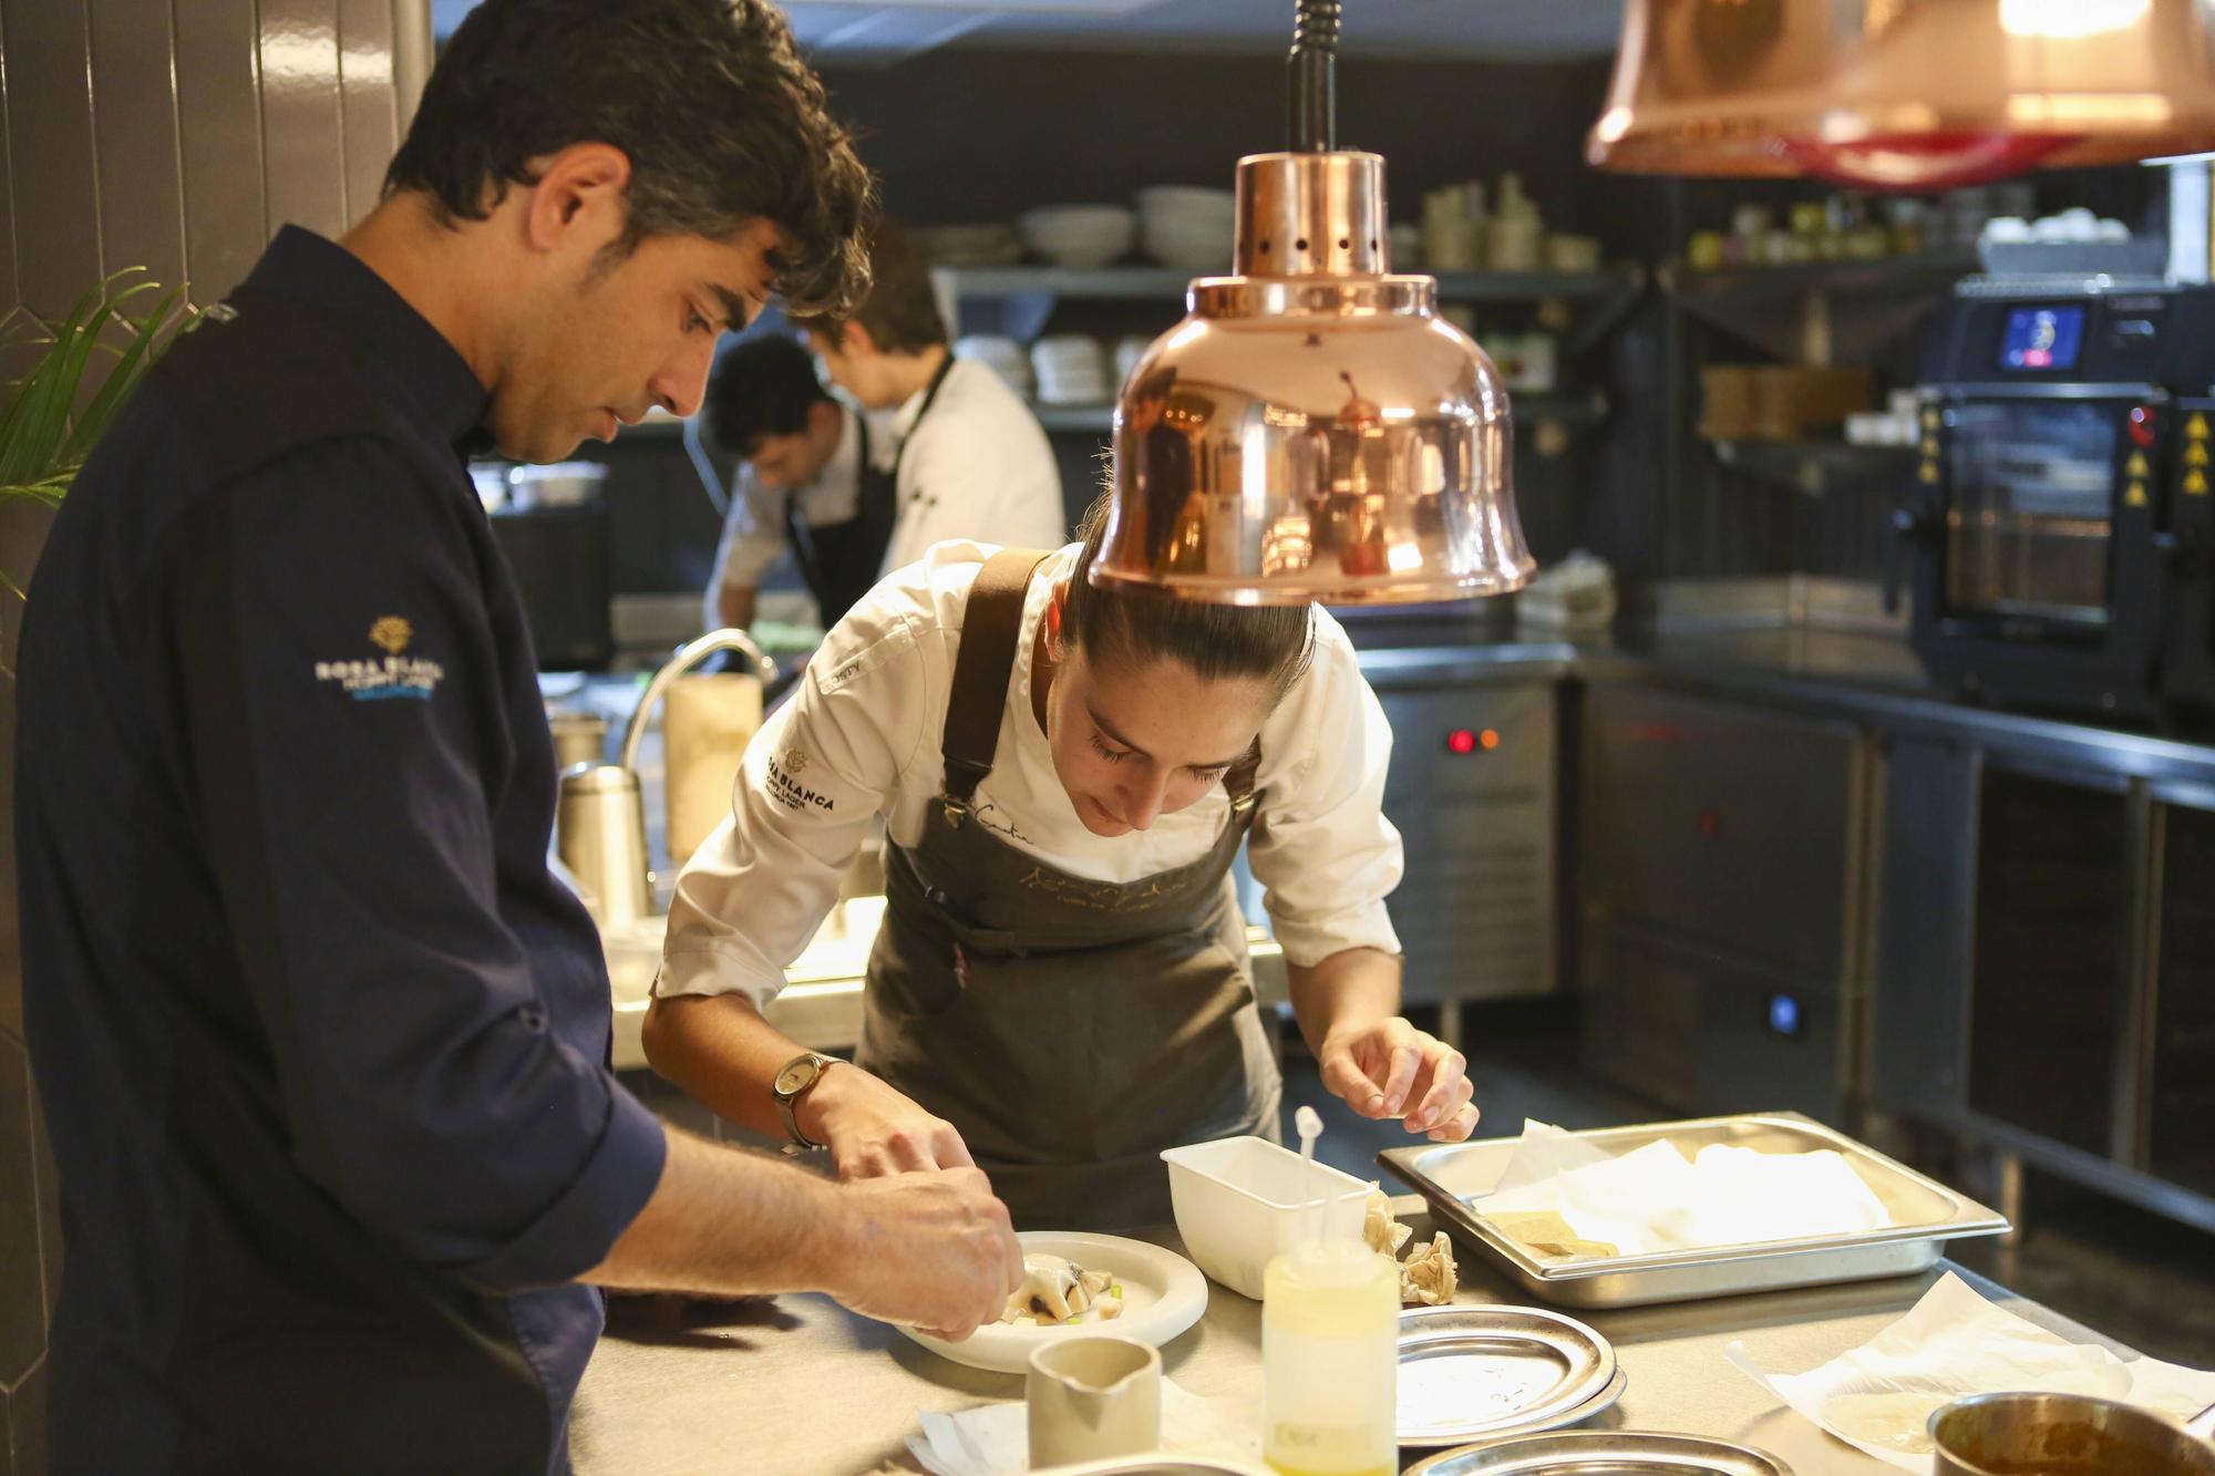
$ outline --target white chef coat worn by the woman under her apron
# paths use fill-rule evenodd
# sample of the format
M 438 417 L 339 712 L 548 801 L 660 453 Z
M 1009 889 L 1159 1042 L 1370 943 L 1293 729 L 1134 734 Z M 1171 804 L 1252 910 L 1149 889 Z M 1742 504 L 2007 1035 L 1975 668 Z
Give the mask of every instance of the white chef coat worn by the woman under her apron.
M 746 747 L 733 813 L 678 878 L 658 995 L 784 988 L 784 966 L 837 902 L 870 820 L 893 842 L 924 836 L 944 791 L 939 740 L 970 585 L 992 545 L 941 543 L 870 590 L 808 663 L 793 698 Z M 1030 703 L 1030 654 L 1052 585 L 1076 545 L 1054 552 L 1023 598 L 1008 709 L 972 818 L 1074 875 L 1132 882 L 1203 858 L 1229 798 L 1161 816 L 1147 831 L 1094 836 L 1076 818 Z M 1353 643 L 1316 609 L 1313 663 L 1260 729 L 1260 813 L 1249 840 L 1274 931 L 1294 964 L 1353 946 L 1398 953 L 1384 895 L 1400 882 L 1400 833 L 1382 813 L 1391 727 Z

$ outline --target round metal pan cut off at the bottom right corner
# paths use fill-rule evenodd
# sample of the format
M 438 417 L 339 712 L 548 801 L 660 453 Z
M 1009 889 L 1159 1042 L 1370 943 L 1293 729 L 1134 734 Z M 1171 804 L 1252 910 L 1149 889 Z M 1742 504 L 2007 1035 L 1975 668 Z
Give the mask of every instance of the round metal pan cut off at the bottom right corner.
M 2087 1394 L 1971 1394 L 1929 1421 L 1934 1476 L 2215 1476 L 2215 1445 Z

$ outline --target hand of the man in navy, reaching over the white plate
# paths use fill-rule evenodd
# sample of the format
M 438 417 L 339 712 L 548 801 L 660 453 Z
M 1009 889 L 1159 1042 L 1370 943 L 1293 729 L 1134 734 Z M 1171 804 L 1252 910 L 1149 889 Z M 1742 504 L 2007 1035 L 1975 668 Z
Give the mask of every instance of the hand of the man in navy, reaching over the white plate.
M 859 1179 L 837 1197 L 846 1234 L 826 1290 L 864 1316 L 961 1341 L 1023 1283 L 1008 1206 L 975 1168 Z

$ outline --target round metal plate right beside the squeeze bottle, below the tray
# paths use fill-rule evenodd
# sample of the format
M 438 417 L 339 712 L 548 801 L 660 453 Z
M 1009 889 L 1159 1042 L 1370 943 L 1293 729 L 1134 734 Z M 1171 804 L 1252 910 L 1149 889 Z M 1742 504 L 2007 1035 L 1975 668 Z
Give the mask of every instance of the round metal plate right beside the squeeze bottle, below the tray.
M 1542 1308 L 1446 1305 L 1400 1314 L 1400 1445 L 1438 1447 L 1555 1429 L 1606 1410 L 1615 1347 Z

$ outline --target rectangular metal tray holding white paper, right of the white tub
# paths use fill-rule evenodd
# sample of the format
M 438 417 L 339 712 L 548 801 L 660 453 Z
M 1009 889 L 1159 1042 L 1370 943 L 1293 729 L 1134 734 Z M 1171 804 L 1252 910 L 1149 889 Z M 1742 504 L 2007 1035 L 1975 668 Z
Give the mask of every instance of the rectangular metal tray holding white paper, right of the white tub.
M 1912 1277 L 1938 1263 L 1945 1241 L 2009 1230 L 2005 1214 L 1799 1113 L 1650 1121 L 1575 1137 L 1613 1155 L 1632 1152 L 1657 1139 L 1670 1139 L 1688 1152 L 1699 1152 L 1708 1144 L 1756 1152 L 1834 1148 L 1892 1212 L 1892 1226 L 1854 1234 L 1568 1261 L 1533 1252 L 1469 1203 L 1471 1197 L 1486 1195 L 1500 1183 L 1519 1139 L 1387 1148 L 1378 1155 L 1378 1164 L 1407 1179 L 1429 1201 L 1433 1219 L 1460 1232 L 1519 1288 L 1568 1308 L 1641 1308 L 1657 1301 Z

